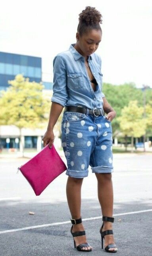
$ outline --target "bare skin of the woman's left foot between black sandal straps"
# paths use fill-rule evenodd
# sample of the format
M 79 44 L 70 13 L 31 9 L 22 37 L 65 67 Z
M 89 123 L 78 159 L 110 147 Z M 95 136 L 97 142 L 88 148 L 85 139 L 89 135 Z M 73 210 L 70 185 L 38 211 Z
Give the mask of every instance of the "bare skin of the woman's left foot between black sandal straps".
M 84 227 L 83 227 L 83 224 L 82 223 L 79 223 L 77 225 L 73 225 L 72 227 L 72 233 L 74 232 L 77 232 L 77 231 L 84 231 Z M 83 236 L 78 236 L 78 237 L 73 237 L 74 240 L 75 240 L 75 245 L 78 246 L 79 244 L 84 244 L 84 243 L 87 243 L 87 240 L 86 240 L 86 236 L 83 235 Z M 92 249 L 92 246 L 87 246 L 87 247 L 83 247 L 81 248 L 81 250 L 90 250 Z

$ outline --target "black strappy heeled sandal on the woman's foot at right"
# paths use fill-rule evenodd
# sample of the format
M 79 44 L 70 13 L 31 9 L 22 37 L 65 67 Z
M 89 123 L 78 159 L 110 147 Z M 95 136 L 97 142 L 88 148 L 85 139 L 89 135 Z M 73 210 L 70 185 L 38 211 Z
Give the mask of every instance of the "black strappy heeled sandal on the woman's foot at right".
M 114 217 L 102 216 L 102 220 L 103 220 L 103 221 L 114 222 Z M 102 231 L 103 226 L 104 226 L 104 222 L 102 223 L 102 227 L 101 227 L 101 229 L 100 229 L 102 249 L 103 249 L 103 239 L 104 239 L 104 236 L 105 236 L 105 235 L 113 235 L 112 229 L 108 229 L 108 230 Z M 117 247 L 117 246 L 115 246 L 115 244 L 108 244 L 108 245 L 105 247 L 105 251 L 106 251 L 106 252 L 117 252 L 117 250 L 109 250 L 110 248 L 114 248 L 114 247 Z

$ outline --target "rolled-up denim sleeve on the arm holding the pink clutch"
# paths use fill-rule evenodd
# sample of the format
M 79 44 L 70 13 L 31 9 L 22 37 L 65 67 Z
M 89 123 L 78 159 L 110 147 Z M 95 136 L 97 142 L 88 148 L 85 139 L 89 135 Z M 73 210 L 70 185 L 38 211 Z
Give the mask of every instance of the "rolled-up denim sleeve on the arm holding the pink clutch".
M 63 107 L 68 99 L 67 94 L 67 72 L 65 61 L 62 56 L 57 55 L 53 60 L 53 95 L 52 102 L 57 102 Z

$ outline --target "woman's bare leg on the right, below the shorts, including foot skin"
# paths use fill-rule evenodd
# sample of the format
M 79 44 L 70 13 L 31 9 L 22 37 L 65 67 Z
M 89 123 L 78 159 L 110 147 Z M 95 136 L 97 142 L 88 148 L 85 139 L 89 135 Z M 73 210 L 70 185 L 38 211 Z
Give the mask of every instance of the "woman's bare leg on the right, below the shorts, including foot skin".
M 111 173 L 95 173 L 98 180 L 98 200 L 100 202 L 102 216 L 112 217 L 113 215 L 113 186 Z M 104 221 L 102 231 L 112 229 L 112 222 Z M 104 246 L 114 244 L 114 235 L 104 236 Z M 117 250 L 117 248 L 110 248 L 109 250 Z

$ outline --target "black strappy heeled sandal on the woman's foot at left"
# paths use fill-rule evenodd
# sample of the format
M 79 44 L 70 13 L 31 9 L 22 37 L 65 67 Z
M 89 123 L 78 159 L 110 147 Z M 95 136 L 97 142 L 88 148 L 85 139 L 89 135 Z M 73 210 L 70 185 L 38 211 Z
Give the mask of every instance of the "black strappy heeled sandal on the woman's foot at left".
M 71 220 L 71 223 L 72 223 L 71 234 L 72 234 L 72 236 L 73 236 L 74 247 L 75 247 L 78 251 L 81 251 L 81 252 L 90 252 L 90 251 L 92 251 L 92 249 L 90 249 L 90 250 L 81 250 L 81 248 L 83 248 L 83 247 L 90 246 L 90 244 L 88 244 L 88 243 L 79 244 L 77 247 L 75 246 L 74 237 L 78 237 L 78 236 L 83 236 L 83 235 L 85 235 L 85 231 L 77 231 L 77 232 L 72 233 L 73 225 L 81 223 L 81 222 L 82 222 L 82 219 L 80 218 L 80 219 L 70 219 L 70 220 Z

